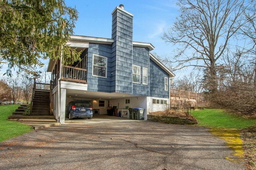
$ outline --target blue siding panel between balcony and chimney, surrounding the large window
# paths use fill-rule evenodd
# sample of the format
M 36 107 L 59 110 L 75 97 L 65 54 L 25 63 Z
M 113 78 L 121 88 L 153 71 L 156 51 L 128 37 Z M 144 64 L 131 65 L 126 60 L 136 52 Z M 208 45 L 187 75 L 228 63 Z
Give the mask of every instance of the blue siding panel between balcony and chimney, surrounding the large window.
M 96 92 L 110 92 L 110 79 L 112 70 L 112 45 L 106 44 L 89 44 L 88 49 L 88 68 L 87 68 L 87 82 L 88 90 Z M 107 57 L 107 78 L 92 76 L 92 57 L 93 54 Z

